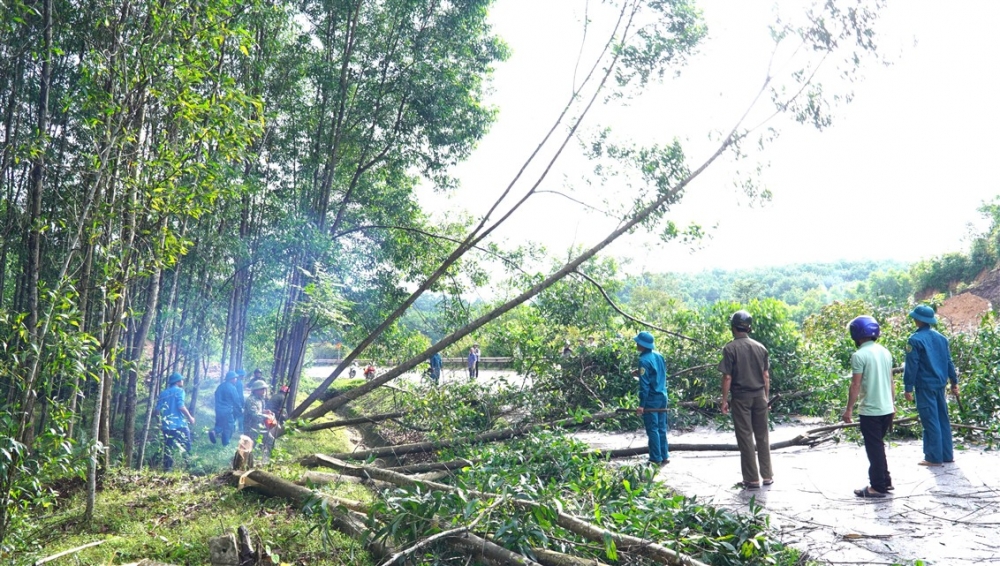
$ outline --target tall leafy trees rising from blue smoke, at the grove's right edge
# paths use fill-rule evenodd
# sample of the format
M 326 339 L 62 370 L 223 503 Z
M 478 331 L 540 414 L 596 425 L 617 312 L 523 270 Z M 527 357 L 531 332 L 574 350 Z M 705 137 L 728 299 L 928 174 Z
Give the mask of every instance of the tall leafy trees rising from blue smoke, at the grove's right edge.
M 311 332 L 333 319 L 311 305 L 326 273 L 376 324 L 387 305 L 440 258 L 414 187 L 446 185 L 447 167 L 493 119 L 485 79 L 503 59 L 486 0 L 327 0 L 302 3 L 302 98 L 275 135 L 290 159 L 274 179 L 290 203 L 274 372 L 293 395 Z M 288 153 L 286 153 L 288 155 Z M 336 309 L 343 311 L 343 309 Z M 332 313 L 327 313 L 332 314 Z

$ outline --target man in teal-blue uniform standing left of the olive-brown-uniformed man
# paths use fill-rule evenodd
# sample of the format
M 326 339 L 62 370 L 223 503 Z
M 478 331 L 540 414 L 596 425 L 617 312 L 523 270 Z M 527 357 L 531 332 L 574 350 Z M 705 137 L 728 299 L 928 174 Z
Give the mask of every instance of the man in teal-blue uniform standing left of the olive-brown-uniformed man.
M 670 461 L 667 445 L 667 365 L 663 356 L 653 351 L 653 335 L 640 332 L 632 339 L 639 351 L 639 367 L 632 375 L 639 378 L 639 407 L 649 439 L 649 463 L 666 464 Z

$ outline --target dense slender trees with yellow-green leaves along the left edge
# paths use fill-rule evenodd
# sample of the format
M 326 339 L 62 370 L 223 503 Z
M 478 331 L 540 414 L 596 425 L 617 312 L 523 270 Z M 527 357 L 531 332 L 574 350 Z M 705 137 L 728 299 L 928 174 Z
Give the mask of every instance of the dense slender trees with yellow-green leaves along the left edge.
M 97 380 L 85 389 L 100 440 L 91 490 L 98 454 L 108 463 L 100 447 L 110 446 L 121 379 L 131 456 L 137 374 L 122 370 L 144 350 L 162 270 L 187 248 L 185 219 L 234 190 L 228 164 L 260 132 L 259 104 L 220 65 L 249 43 L 231 25 L 241 4 L 53 0 L 5 17 L 3 48 L 20 72 L 3 83 L 4 212 L 26 237 L 4 242 L 17 280 L 3 308 L 23 313 L 4 343 L 4 408 L 16 415 L 5 432 L 20 447 L 4 466 L 4 509 L 36 454 L 37 403 L 58 402 L 69 376 Z

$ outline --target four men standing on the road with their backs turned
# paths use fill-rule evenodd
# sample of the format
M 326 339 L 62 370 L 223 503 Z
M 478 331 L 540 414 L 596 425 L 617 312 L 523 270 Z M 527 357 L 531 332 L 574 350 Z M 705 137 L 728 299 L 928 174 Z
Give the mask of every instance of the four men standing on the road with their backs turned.
M 909 313 L 916 325 L 906 345 L 903 387 L 907 401 L 916 400 L 923 427 L 924 459 L 921 466 L 941 466 L 954 462 L 951 424 L 945 386 L 958 396 L 958 375 L 948 347 L 948 339 L 932 328 L 937 324 L 934 310 L 919 305 Z M 729 318 L 733 339 L 722 349 L 718 369 L 722 374 L 722 414 L 731 414 L 740 452 L 744 489 L 759 489 L 774 483 L 771 445 L 768 438 L 768 412 L 771 389 L 770 360 L 767 348 L 750 338 L 753 318 L 744 310 Z M 851 385 L 847 408 L 841 415 L 852 423 L 858 406 L 859 428 L 868 456 L 869 483 L 854 490 L 857 497 L 884 498 L 893 490 L 892 476 L 885 456 L 885 436 L 895 415 L 892 383 L 892 355 L 878 344 L 881 327 L 870 316 L 859 316 L 848 324 L 848 332 L 857 350 L 851 355 Z M 633 338 L 639 352 L 639 406 L 649 441 L 649 462 L 663 465 L 670 461 L 667 443 L 666 364 L 654 351 L 653 335 L 640 332 Z

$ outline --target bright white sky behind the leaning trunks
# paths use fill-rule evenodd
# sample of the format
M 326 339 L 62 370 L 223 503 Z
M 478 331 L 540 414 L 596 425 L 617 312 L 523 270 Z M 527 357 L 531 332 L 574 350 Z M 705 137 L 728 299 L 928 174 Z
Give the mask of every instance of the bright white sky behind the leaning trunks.
M 681 78 L 668 79 L 626 111 L 596 115 L 589 127 L 611 126 L 619 136 L 645 142 L 677 137 L 692 166 L 707 156 L 709 133 L 728 131 L 765 76 L 772 8 L 735 0 L 700 5 L 709 38 Z M 478 217 L 506 187 L 569 95 L 584 6 L 582 0 L 497 0 L 491 18 L 512 50 L 496 72 L 490 98 L 499 120 L 455 171 L 462 188 L 447 199 L 425 195 L 430 206 Z M 782 136 L 763 156 L 770 203 L 750 206 L 732 184 L 733 165 L 717 163 L 669 216 L 717 226 L 701 249 L 637 233 L 606 253 L 622 259 L 629 272 L 663 272 L 915 261 L 966 251 L 969 224 L 982 224 L 976 208 L 1000 194 L 991 165 L 1000 149 L 997 21 L 1000 2 L 992 0 L 895 0 L 881 28 L 887 34 L 882 52 L 893 64 L 865 70 L 854 102 L 838 110 L 831 129 L 779 124 Z M 570 149 L 576 152 L 575 145 Z M 567 186 L 586 168 L 569 154 L 542 188 L 600 206 L 597 189 L 573 192 Z M 571 245 L 603 239 L 614 224 L 542 194 L 498 236 L 511 244 L 537 242 L 565 256 Z

